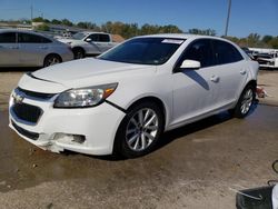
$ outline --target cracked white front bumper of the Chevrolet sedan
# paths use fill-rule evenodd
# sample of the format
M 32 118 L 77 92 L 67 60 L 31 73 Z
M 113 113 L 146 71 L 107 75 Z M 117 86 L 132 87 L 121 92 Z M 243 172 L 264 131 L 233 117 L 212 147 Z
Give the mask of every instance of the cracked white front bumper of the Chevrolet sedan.
M 93 108 L 56 109 L 52 100 L 24 98 L 23 104 L 39 107 L 42 112 L 37 122 L 30 122 L 17 116 L 13 100 L 11 97 L 9 127 L 27 141 L 52 152 L 112 153 L 117 129 L 126 115 L 107 102 Z

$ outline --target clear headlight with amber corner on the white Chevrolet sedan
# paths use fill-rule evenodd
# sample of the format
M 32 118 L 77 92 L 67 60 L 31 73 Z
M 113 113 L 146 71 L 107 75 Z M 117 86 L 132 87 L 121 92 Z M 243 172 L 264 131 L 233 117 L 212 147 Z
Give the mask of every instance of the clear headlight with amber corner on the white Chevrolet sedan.
M 61 92 L 54 100 L 54 108 L 86 108 L 100 104 L 117 88 L 118 83 L 101 84 Z

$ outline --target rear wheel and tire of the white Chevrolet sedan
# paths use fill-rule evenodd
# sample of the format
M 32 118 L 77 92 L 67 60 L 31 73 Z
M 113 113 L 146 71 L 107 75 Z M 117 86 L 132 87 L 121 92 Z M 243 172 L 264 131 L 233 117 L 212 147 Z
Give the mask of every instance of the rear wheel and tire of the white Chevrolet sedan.
M 249 113 L 251 106 L 254 104 L 255 97 L 256 97 L 255 87 L 248 84 L 241 92 L 235 109 L 230 111 L 234 115 L 234 117 L 245 118 Z

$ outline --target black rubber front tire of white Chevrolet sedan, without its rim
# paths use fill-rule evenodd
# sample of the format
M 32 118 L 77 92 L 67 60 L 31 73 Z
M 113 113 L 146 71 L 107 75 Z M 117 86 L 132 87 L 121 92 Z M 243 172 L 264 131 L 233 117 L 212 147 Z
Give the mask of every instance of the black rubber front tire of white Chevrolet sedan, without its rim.
M 135 150 L 131 150 L 129 146 L 127 145 L 126 130 L 127 130 L 128 122 L 133 117 L 133 115 L 138 112 L 140 109 L 145 109 L 145 108 L 149 108 L 156 112 L 158 117 L 158 132 L 157 132 L 155 140 L 148 148 L 146 148 L 142 151 L 135 151 Z M 132 108 L 130 108 L 130 110 L 128 110 L 126 117 L 123 118 L 123 120 L 121 121 L 118 128 L 116 140 L 115 140 L 115 146 L 113 146 L 113 153 L 117 156 L 125 157 L 125 158 L 137 158 L 140 156 L 145 156 L 153 150 L 162 131 L 163 131 L 163 115 L 160 108 L 156 103 L 142 102 L 137 106 L 133 106 Z

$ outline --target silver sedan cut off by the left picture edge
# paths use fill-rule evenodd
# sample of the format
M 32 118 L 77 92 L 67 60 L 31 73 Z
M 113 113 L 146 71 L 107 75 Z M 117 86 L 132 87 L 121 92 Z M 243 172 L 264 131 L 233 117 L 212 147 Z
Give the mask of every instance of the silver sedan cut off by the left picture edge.
M 48 67 L 73 59 L 71 49 L 37 32 L 0 29 L 0 67 Z

